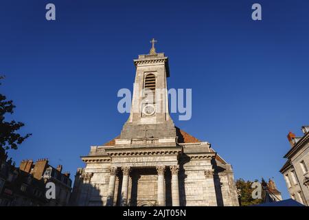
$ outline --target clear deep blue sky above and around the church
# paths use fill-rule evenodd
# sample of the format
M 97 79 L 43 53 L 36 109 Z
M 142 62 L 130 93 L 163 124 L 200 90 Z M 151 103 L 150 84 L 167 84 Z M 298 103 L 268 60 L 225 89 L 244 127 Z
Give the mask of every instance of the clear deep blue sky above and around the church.
M 56 5 L 56 21 L 45 5 Z M 262 21 L 251 5 L 262 5 Z M 1 94 L 33 133 L 21 159 L 48 157 L 73 175 L 89 146 L 117 136 L 128 114 L 117 91 L 133 87 L 133 58 L 170 58 L 169 88 L 192 88 L 192 119 L 174 123 L 208 141 L 236 179 L 274 177 L 290 148 L 286 135 L 308 124 L 309 2 L 81 1 L 0 2 Z

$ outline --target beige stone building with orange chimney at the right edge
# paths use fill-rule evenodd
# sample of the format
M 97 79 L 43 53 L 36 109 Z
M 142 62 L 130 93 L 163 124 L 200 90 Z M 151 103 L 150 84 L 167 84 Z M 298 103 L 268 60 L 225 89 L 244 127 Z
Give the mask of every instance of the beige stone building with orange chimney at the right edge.
M 309 205 L 309 126 L 302 126 L 304 135 L 297 137 L 294 133 L 288 133 L 290 150 L 284 158 L 286 164 L 280 172 L 284 175 L 290 197 Z

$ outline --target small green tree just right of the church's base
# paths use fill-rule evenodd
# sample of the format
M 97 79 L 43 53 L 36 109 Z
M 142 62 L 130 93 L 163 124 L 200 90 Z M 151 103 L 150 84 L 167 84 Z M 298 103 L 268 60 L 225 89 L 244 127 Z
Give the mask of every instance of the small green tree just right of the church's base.
M 253 188 L 251 188 L 251 184 L 253 184 L 253 181 L 244 181 L 244 179 L 238 179 L 236 181 L 236 188 L 238 190 L 238 199 L 240 202 L 240 206 L 251 206 L 263 202 L 262 199 L 252 198 Z

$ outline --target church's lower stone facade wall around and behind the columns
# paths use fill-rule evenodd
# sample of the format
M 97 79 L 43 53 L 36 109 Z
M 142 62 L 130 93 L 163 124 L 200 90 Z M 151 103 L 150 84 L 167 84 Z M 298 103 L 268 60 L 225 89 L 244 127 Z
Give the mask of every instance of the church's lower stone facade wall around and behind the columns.
M 118 167 L 115 179 L 113 206 L 122 199 L 122 165 L 130 166 L 128 177 L 128 206 L 157 206 L 158 174 L 155 167 L 167 164 L 165 169 L 165 206 L 172 206 L 170 164 L 177 163 L 174 155 L 114 157 L 112 162 L 91 162 L 74 184 L 79 194 L 79 206 L 106 206 L 111 165 Z M 214 162 L 214 157 L 182 155 L 179 157 L 180 206 L 238 206 L 233 172 L 229 164 Z M 76 190 L 76 187 L 78 188 Z

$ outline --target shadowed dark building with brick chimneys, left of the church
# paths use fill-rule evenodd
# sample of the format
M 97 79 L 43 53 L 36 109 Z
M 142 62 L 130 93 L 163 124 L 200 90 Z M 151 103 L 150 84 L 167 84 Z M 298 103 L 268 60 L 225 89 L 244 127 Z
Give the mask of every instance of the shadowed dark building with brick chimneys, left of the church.
M 2 149 L 2 148 L 1 148 Z M 47 159 L 23 160 L 19 167 L 2 149 L 0 152 L 0 206 L 66 206 L 71 195 L 69 173 L 61 173 Z M 56 199 L 45 196 L 46 184 L 56 186 Z

